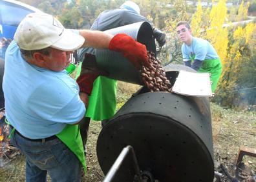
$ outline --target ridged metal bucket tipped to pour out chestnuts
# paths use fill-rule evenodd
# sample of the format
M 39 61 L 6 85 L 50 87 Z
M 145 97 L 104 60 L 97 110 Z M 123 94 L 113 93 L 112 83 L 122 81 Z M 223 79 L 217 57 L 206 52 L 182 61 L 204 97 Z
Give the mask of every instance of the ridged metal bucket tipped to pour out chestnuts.
M 112 35 L 120 33 L 130 35 L 136 41 L 144 44 L 147 50 L 156 52 L 153 29 L 147 21 L 120 26 L 105 32 Z M 106 49 L 96 49 L 95 56 L 98 66 L 109 72 L 107 77 L 128 83 L 142 84 L 138 70 L 121 53 Z

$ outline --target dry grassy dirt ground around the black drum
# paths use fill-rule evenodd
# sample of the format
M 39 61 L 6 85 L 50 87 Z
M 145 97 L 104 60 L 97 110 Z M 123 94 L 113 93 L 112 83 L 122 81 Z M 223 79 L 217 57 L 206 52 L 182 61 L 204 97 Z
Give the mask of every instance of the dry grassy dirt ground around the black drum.
M 211 103 L 211 113 L 215 170 L 224 175 L 220 179 L 215 178 L 215 181 L 232 181 L 232 177 L 235 181 L 237 176 L 237 181 L 252 182 L 256 177 L 256 157 L 244 156 L 239 168 L 235 167 L 235 160 L 241 146 L 256 149 L 256 112 L 224 109 Z M 100 130 L 101 123 L 92 121 L 87 141 L 88 171 L 83 176 L 85 182 L 103 181 L 104 178 L 96 155 Z M 17 155 L 0 168 L 0 181 L 25 181 L 25 160 L 22 155 Z

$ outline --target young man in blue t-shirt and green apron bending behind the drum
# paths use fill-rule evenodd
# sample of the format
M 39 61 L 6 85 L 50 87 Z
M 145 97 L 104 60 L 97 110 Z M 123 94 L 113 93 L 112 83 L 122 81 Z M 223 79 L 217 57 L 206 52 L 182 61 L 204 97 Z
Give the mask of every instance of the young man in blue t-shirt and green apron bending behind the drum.
M 211 91 L 215 92 L 222 72 L 222 63 L 211 43 L 204 39 L 193 37 L 191 28 L 186 21 L 176 25 L 178 37 L 183 42 L 182 57 L 184 64 L 197 72 L 211 74 Z

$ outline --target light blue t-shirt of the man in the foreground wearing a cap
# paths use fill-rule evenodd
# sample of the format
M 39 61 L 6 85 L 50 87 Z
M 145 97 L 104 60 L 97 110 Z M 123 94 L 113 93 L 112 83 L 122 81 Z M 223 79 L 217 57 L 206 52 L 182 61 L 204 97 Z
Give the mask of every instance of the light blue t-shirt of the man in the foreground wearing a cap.
M 3 91 L 6 118 L 30 139 L 58 134 L 85 114 L 76 81 L 65 70 L 54 72 L 31 65 L 15 41 L 6 50 Z

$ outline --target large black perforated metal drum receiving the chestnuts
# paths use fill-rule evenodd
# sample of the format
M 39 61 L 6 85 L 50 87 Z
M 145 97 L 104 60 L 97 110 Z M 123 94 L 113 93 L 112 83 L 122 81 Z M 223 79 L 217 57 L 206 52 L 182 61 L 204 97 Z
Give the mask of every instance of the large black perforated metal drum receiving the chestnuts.
M 172 66 L 167 77 L 175 79 L 178 69 L 185 68 L 180 67 Z M 159 181 L 213 181 L 208 97 L 151 93 L 143 87 L 100 132 L 97 155 L 104 174 L 127 145 L 134 148 L 140 170 L 150 171 Z M 133 177 L 130 169 L 124 169 L 115 181 Z

